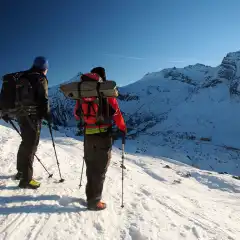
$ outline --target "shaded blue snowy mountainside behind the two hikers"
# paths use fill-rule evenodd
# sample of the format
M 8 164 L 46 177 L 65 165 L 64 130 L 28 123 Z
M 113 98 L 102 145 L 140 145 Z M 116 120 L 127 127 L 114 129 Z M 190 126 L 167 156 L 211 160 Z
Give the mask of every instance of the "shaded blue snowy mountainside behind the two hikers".
M 70 81 L 78 79 L 79 74 Z M 239 83 L 240 52 L 234 52 L 218 67 L 164 69 L 120 88 L 129 138 L 139 142 L 135 152 L 240 175 Z M 75 126 L 74 102 L 58 86 L 50 89 L 50 96 L 55 122 Z M 208 148 L 214 151 L 209 154 Z

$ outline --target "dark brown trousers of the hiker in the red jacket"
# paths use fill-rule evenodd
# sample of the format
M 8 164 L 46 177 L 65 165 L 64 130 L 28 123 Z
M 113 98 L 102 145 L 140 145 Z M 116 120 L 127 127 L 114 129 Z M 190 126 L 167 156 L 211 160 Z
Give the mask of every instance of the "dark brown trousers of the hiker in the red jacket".
M 109 133 L 85 135 L 86 196 L 88 203 L 101 200 L 105 175 L 111 159 L 112 137 Z

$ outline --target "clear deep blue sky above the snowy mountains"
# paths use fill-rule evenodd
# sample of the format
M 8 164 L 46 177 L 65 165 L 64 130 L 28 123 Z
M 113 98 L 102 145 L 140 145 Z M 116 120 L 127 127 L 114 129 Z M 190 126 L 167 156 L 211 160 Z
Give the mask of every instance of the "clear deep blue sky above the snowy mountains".
M 0 75 L 49 59 L 50 85 L 92 67 L 119 85 L 240 50 L 239 0 L 2 0 Z

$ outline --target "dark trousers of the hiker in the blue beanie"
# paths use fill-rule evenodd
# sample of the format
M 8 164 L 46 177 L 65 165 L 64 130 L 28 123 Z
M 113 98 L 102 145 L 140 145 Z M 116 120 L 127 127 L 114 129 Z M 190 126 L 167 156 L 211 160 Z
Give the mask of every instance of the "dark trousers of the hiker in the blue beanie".
M 22 142 L 17 154 L 17 170 L 22 172 L 23 181 L 33 177 L 33 160 L 39 144 L 41 120 L 31 117 L 18 118 Z

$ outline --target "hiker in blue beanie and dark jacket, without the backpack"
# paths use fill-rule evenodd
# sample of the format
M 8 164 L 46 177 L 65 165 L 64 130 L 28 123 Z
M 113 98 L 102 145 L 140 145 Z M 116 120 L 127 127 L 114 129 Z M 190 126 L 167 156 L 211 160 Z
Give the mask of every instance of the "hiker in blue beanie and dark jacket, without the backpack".
M 33 66 L 25 71 L 21 78 L 27 78 L 34 89 L 36 114 L 18 117 L 22 142 L 17 154 L 16 179 L 20 180 L 20 188 L 36 189 L 40 183 L 33 179 L 33 160 L 39 144 L 42 119 L 51 121 L 48 102 L 48 61 L 44 57 L 37 57 Z

